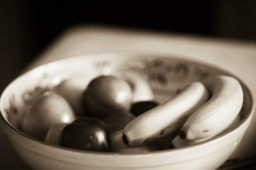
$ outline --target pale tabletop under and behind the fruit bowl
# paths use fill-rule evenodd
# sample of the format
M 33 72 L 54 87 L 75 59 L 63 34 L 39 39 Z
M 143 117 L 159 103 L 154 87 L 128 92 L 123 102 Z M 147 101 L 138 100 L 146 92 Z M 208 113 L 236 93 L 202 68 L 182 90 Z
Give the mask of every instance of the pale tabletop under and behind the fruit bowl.
M 81 53 L 113 50 L 164 52 L 209 62 L 239 76 L 256 97 L 256 42 L 216 39 L 189 34 L 150 32 L 107 27 L 106 25 L 75 25 L 63 31 L 25 70 L 45 62 Z M 2 140 L 0 143 L 0 165 L 5 167 L 4 169 L 29 169 L 13 152 L 3 132 L 0 132 Z M 256 155 L 255 143 L 256 115 L 254 114 L 252 124 L 244 135 L 234 157 L 246 159 Z

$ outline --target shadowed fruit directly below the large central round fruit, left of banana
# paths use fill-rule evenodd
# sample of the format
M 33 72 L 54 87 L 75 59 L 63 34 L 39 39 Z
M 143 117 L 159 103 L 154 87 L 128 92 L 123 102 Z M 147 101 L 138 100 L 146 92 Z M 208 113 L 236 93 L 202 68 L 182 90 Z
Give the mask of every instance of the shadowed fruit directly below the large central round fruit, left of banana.
M 125 125 L 131 122 L 134 118 L 135 116 L 129 112 L 113 113 L 102 118 L 102 122 L 107 125 L 109 132 L 113 133 L 124 129 Z

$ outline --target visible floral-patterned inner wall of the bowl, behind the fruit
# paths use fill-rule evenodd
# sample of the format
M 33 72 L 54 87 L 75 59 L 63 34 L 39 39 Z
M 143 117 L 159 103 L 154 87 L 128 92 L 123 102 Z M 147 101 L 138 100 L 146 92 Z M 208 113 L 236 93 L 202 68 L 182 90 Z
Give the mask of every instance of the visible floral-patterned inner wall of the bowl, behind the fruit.
M 140 74 L 147 78 L 159 103 L 170 99 L 191 81 L 204 81 L 216 74 L 234 76 L 208 64 L 163 54 L 131 52 L 81 55 L 36 67 L 15 79 L 1 96 L 2 117 L 6 124 L 19 129 L 21 118 L 39 94 L 70 77 L 81 77 L 81 83 L 86 84 L 100 74 Z M 241 85 L 244 91 L 244 104 L 240 112 L 243 121 L 252 110 L 252 96 L 243 82 Z

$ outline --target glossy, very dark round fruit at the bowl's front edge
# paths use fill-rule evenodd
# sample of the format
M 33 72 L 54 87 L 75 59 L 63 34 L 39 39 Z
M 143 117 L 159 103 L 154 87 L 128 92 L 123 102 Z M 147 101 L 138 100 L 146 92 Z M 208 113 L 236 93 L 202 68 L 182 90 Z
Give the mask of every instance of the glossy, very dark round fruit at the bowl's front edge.
M 66 125 L 59 138 L 60 146 L 79 150 L 108 152 L 109 131 L 97 118 L 82 117 Z

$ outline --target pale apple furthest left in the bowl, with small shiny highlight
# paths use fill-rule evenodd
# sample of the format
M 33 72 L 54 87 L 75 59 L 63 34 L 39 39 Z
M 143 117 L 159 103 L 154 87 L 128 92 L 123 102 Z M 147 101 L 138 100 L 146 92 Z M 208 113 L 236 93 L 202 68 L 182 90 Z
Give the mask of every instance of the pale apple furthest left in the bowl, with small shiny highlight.
M 76 119 L 70 104 L 55 92 L 47 91 L 38 96 L 24 113 L 20 130 L 29 136 L 44 140 L 48 129 L 57 123 L 68 123 Z

